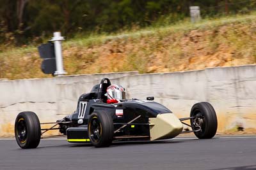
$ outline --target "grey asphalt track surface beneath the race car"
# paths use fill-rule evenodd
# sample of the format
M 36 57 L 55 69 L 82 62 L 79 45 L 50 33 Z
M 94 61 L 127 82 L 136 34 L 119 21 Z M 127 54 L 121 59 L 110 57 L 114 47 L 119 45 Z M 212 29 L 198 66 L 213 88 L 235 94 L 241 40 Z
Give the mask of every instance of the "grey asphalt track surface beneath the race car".
M 256 169 L 256 136 L 120 142 L 108 148 L 45 139 L 30 150 L 20 149 L 13 139 L 0 139 L 4 169 Z

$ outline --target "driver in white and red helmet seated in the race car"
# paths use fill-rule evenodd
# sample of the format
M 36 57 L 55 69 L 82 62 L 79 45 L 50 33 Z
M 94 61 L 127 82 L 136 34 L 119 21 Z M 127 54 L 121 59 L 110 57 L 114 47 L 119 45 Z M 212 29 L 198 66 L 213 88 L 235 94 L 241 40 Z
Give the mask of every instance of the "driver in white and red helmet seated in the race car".
M 119 103 L 124 101 L 125 98 L 125 89 L 121 85 L 109 85 L 107 89 L 108 100 L 107 103 Z

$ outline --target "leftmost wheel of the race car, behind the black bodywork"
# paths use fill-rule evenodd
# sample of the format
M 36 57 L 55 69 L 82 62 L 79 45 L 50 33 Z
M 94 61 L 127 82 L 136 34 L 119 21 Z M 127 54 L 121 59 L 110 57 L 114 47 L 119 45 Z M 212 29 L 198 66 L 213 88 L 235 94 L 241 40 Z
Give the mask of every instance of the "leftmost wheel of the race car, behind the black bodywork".
M 41 139 L 41 127 L 34 112 L 19 113 L 15 120 L 15 138 L 22 149 L 36 148 Z

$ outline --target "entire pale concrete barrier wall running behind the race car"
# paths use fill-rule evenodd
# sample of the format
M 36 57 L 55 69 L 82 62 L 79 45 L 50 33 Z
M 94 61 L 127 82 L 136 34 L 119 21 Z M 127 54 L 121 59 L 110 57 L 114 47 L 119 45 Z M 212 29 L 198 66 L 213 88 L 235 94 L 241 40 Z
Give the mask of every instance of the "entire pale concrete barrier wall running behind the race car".
M 215 67 L 200 71 L 138 74 L 89 74 L 31 80 L 0 81 L 0 136 L 13 136 L 20 111 L 35 111 L 41 122 L 65 117 L 78 97 L 108 77 L 123 85 L 128 98 L 154 96 L 178 117 L 188 117 L 193 104 L 208 101 L 218 115 L 218 132 L 256 132 L 256 66 Z M 232 130 L 233 129 L 233 130 Z

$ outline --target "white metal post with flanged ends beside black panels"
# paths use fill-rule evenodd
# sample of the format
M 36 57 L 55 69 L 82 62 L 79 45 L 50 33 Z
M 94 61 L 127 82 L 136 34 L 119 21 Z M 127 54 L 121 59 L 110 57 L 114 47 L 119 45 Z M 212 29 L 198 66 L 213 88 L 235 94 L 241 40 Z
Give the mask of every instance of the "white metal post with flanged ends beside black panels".
M 60 32 L 54 32 L 53 37 L 51 41 L 54 42 L 54 51 L 55 51 L 55 57 L 56 57 L 56 71 L 55 75 L 62 76 L 63 74 L 67 74 L 63 69 L 63 59 L 62 59 L 62 53 L 61 53 L 61 41 L 63 41 L 64 38 L 61 36 Z

